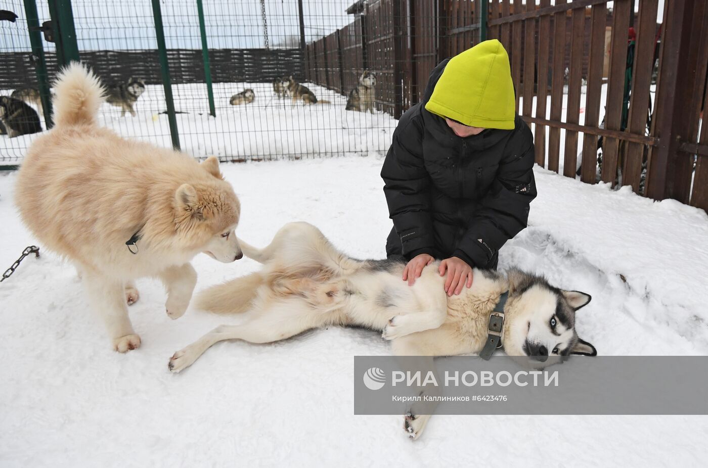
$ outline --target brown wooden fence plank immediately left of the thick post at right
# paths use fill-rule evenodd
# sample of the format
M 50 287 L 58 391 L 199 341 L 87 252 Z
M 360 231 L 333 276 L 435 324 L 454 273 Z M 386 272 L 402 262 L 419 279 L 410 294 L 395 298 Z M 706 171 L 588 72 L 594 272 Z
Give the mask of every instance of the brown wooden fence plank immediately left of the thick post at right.
M 654 65 L 654 37 L 656 35 L 656 13 L 658 0 L 639 1 L 639 30 L 636 31 L 632 94 L 629 100 L 627 130 L 632 133 L 646 132 L 646 116 L 649 113 L 649 86 L 651 69 Z M 622 185 L 632 186 L 639 193 L 641 164 L 644 160 L 644 145 L 627 144 L 627 155 L 622 169 Z

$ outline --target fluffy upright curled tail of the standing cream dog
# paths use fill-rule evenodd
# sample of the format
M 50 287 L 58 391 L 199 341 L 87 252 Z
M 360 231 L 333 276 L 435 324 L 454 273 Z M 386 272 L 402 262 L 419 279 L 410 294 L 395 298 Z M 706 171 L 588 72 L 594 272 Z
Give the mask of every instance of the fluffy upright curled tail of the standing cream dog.
M 57 127 L 96 125 L 96 114 L 104 95 L 96 75 L 75 62 L 62 70 L 54 86 L 54 122 Z

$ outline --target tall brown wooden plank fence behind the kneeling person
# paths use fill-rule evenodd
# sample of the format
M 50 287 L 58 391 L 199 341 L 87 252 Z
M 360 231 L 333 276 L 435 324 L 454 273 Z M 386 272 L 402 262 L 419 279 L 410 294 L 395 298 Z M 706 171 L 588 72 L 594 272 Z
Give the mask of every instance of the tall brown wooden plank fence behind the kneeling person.
M 576 177 L 581 151 L 584 182 L 597 182 L 599 172 L 613 186 L 708 208 L 707 125 L 698 134 L 707 101 L 708 0 L 666 1 L 663 23 L 658 0 L 637 0 L 638 15 L 632 0 L 612 8 L 607 0 L 491 0 L 481 18 L 482 1 L 369 1 L 353 23 L 307 45 L 304 73 L 346 94 L 362 70 L 377 72 L 377 108 L 399 118 L 420 100 L 435 64 L 479 42 L 485 23 L 487 38 L 509 52 L 538 164 L 559 171 L 563 161 L 564 175 Z

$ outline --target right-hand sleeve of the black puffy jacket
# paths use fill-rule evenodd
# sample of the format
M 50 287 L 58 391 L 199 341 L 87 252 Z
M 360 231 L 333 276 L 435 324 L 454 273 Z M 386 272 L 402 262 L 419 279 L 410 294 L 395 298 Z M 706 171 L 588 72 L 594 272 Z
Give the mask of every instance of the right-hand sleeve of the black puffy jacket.
M 501 246 L 527 226 L 529 205 L 537 193 L 533 137 L 527 126 L 522 133 L 521 144 L 510 144 L 521 151 L 502 159 L 489 192 L 453 253 L 470 266 L 486 268 Z

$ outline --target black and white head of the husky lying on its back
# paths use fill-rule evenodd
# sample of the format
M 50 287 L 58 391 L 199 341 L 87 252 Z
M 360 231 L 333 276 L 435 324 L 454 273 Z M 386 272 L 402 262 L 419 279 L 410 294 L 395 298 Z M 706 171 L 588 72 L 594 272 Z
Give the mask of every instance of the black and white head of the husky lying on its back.
M 520 270 L 509 270 L 507 278 L 502 341 L 508 355 L 530 356 L 543 365 L 571 354 L 597 355 L 595 347 L 579 338 L 575 329 L 576 312 L 590 302 L 590 295 L 560 290 Z

